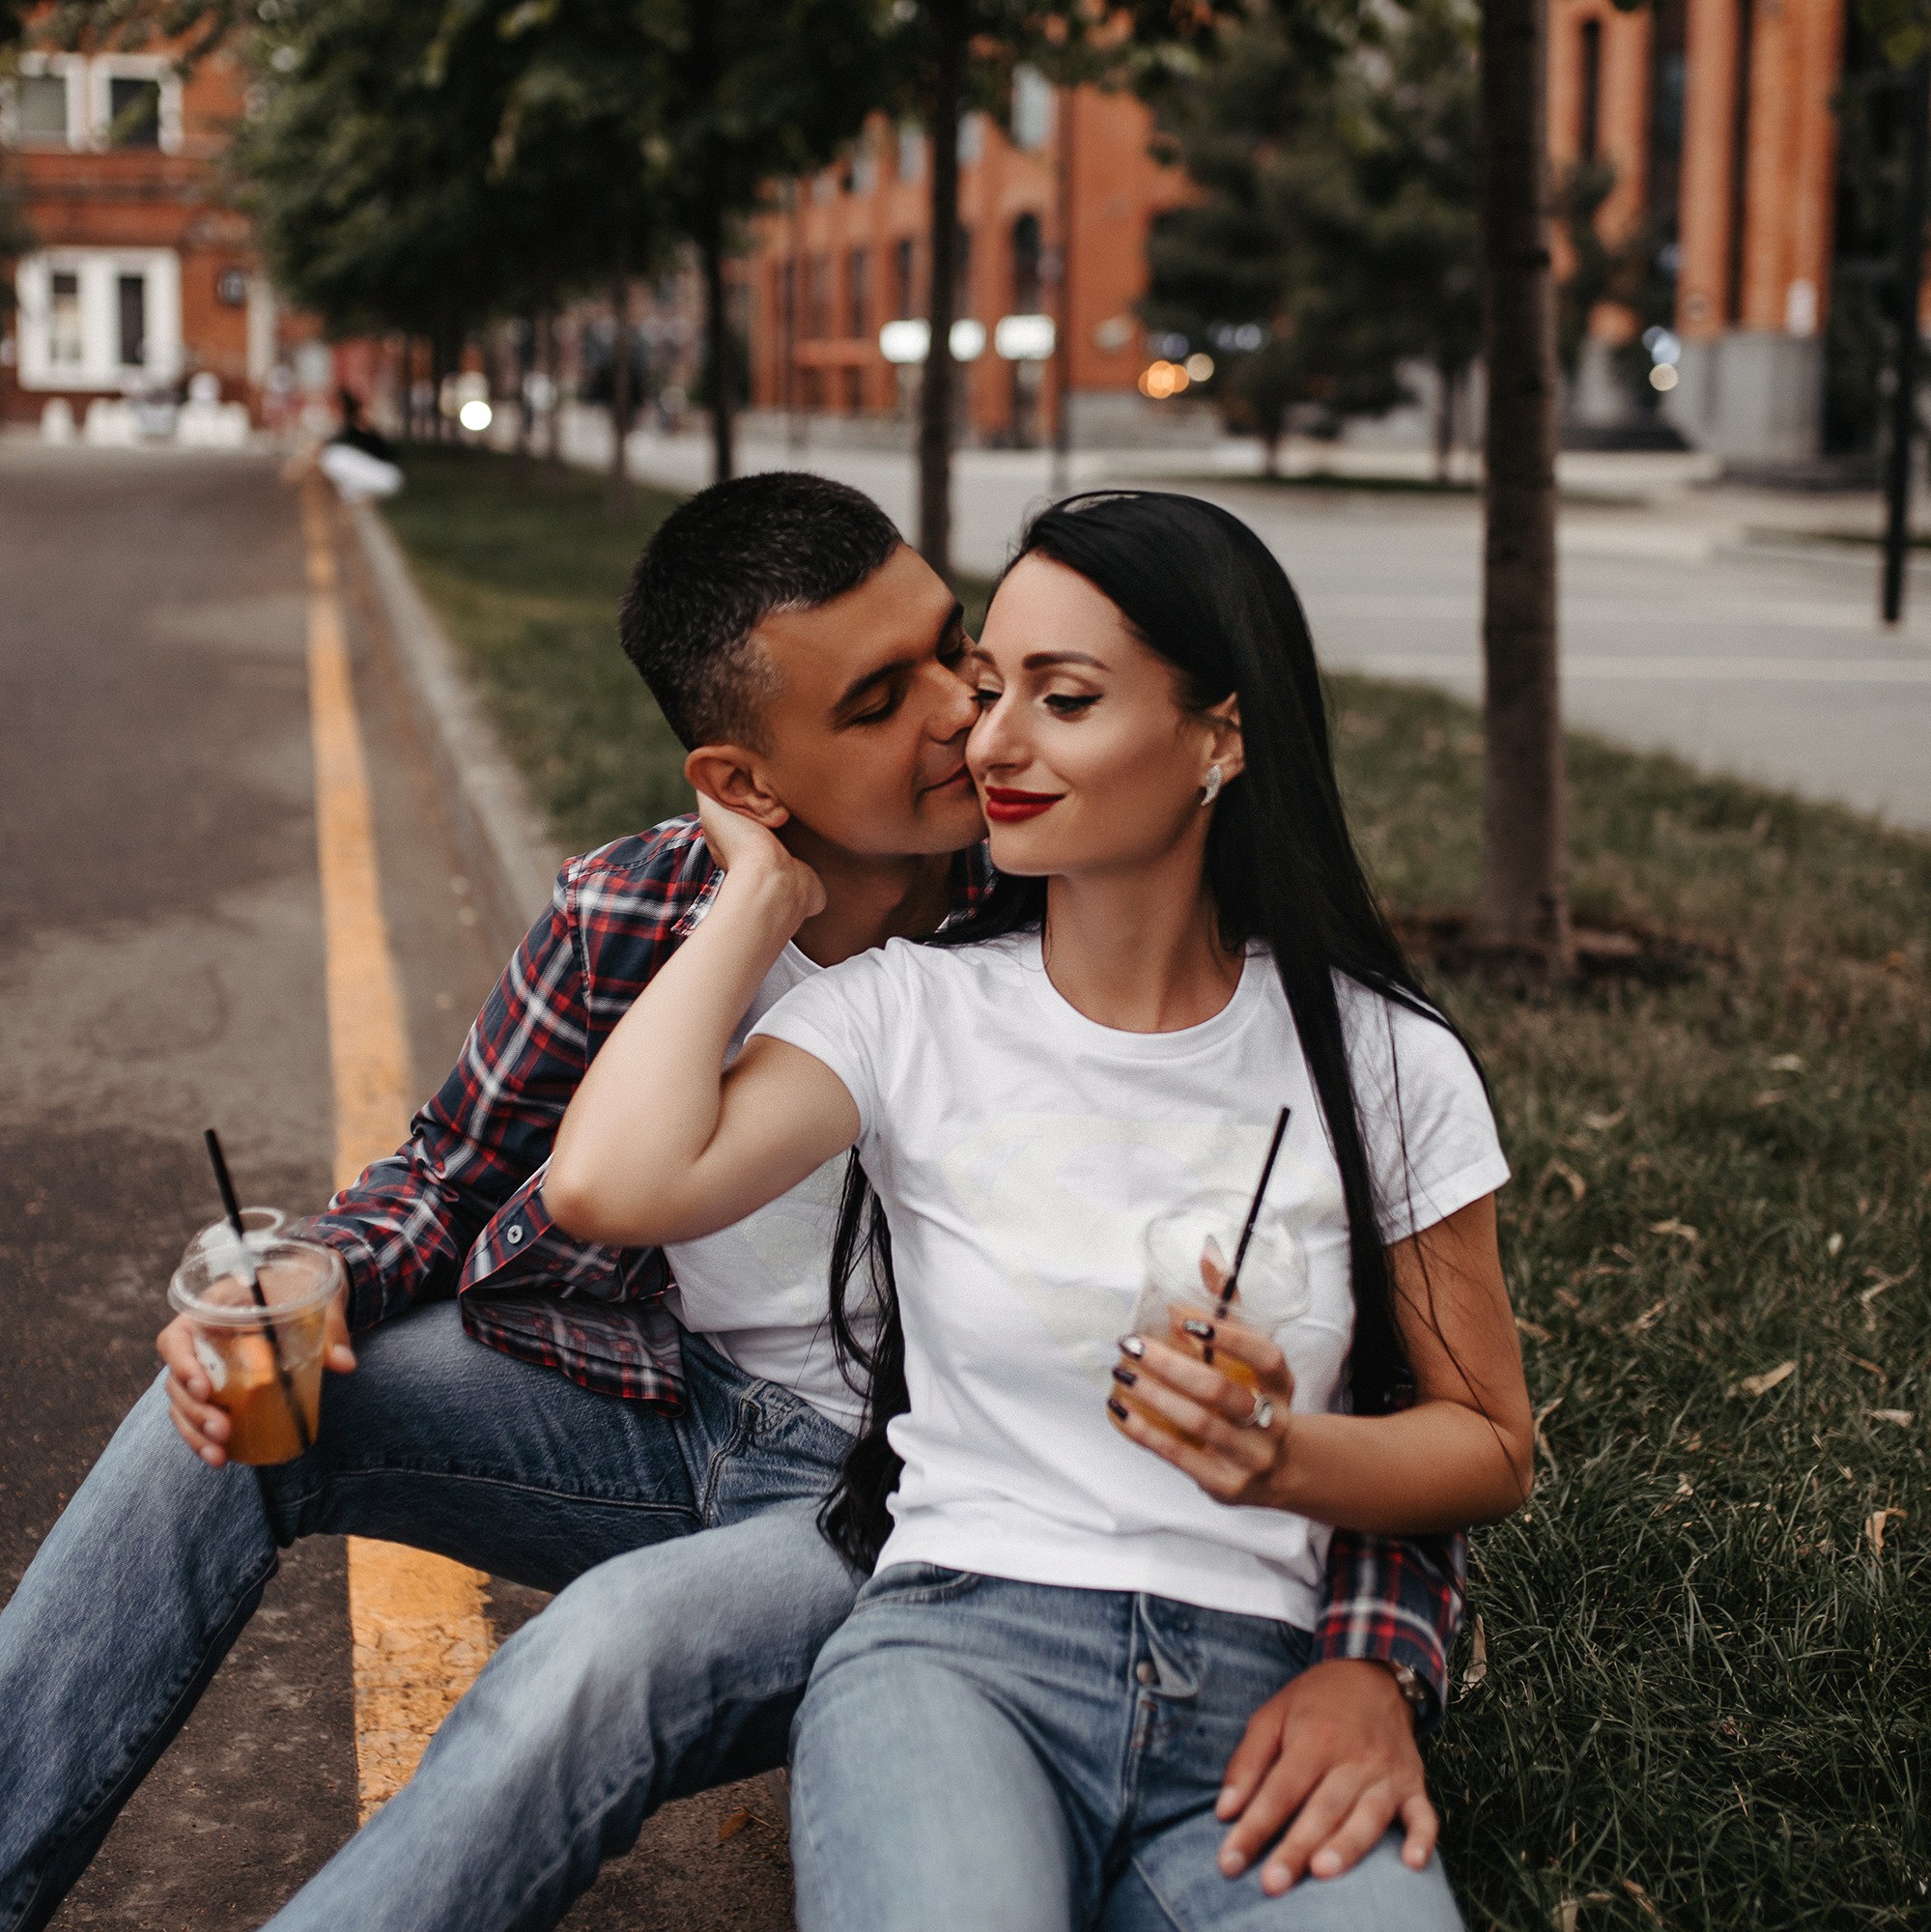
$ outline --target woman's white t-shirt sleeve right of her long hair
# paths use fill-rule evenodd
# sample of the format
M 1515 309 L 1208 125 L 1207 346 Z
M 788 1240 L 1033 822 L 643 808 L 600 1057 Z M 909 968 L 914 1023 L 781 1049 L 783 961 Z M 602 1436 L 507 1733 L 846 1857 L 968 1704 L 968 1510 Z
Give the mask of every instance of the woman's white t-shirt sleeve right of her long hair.
M 1385 1242 L 1419 1235 L 1508 1180 L 1487 1088 L 1446 1026 L 1352 985 L 1342 1022 Z

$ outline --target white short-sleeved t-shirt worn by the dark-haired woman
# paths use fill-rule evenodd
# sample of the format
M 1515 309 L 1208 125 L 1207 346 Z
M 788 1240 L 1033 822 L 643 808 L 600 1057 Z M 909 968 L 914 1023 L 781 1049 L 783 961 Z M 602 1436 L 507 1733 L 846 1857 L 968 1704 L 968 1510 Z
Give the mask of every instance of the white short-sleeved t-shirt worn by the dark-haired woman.
M 1508 1163 L 1454 1036 L 1338 987 L 1392 1242 L 1498 1188 Z M 1147 1223 L 1201 1188 L 1251 1192 L 1282 1103 L 1294 1119 L 1267 1198 L 1300 1233 L 1311 1291 L 1280 1331 L 1294 1406 L 1344 1405 L 1340 1171 L 1271 956 L 1249 954 L 1203 1026 L 1122 1034 L 1060 997 L 1037 933 L 894 939 L 815 974 L 753 1032 L 846 1084 L 892 1229 L 911 1406 L 890 1428 L 906 1470 L 879 1565 L 1143 1590 L 1309 1627 L 1329 1532 L 1213 1501 L 1105 1414 Z

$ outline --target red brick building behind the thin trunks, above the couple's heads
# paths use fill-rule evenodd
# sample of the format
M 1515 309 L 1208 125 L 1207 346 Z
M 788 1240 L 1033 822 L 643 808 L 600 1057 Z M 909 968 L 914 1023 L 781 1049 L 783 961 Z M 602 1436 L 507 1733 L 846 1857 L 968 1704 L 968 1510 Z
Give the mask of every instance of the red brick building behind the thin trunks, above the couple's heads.
M 1133 303 L 1147 228 L 1186 195 L 1149 155 L 1151 116 L 1128 95 L 1056 89 L 1021 71 L 1012 131 L 971 114 L 960 128 L 962 269 L 954 332 L 971 440 L 1033 444 L 1052 433 L 1062 361 L 1037 321 L 1062 315 L 1070 228 L 1070 390 L 1079 440 L 1145 435 L 1147 365 Z M 743 265 L 753 408 L 904 423 L 917 367 L 879 332 L 925 315 L 927 139 L 877 118 L 852 158 L 790 182 L 755 224 Z M 1068 220 L 1070 216 L 1070 220 Z M 1031 319 L 1000 328 L 1016 317 Z M 1008 352 L 1031 354 L 1008 354 Z M 1035 359 L 1037 357 L 1037 359 Z

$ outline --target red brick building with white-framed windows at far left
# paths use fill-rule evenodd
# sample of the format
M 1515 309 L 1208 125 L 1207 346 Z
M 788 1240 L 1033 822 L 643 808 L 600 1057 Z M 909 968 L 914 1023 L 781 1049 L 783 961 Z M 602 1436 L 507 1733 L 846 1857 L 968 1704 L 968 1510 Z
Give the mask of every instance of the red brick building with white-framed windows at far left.
M 33 251 L 0 359 L 0 417 L 170 392 L 197 373 L 259 412 L 274 299 L 218 180 L 243 70 L 216 50 L 183 79 L 164 52 L 23 54 L 0 87 L 4 168 Z M 207 394 L 209 384 L 197 384 Z

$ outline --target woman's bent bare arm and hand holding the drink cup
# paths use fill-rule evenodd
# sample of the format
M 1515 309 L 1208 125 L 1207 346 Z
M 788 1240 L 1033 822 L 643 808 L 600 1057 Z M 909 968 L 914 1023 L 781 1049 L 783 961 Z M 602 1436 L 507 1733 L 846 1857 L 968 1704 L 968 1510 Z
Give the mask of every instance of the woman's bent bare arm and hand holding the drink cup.
M 1377 1536 L 1427 1536 L 1506 1517 L 1529 1493 L 1535 1430 L 1522 1379 L 1495 1196 L 1485 1194 L 1388 1248 L 1394 1316 L 1415 1374 L 1415 1403 L 1392 1416 L 1296 1416 L 1294 1378 L 1265 1335 L 1220 1323 L 1215 1347 L 1238 1356 L 1274 1405 L 1265 1430 L 1244 1426 L 1255 1395 L 1166 1343 L 1126 1350 L 1132 1406 L 1114 1426 L 1186 1470 L 1222 1503 L 1292 1509 Z M 1199 1441 L 1153 1428 L 1159 1410 Z

